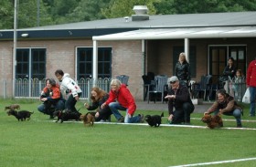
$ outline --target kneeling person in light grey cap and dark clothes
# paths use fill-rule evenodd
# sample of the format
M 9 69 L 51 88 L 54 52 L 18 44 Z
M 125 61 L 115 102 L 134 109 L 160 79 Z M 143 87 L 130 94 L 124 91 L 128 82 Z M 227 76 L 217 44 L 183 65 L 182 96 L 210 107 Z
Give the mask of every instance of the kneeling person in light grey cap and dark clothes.
M 190 124 L 190 114 L 195 110 L 195 106 L 190 99 L 187 86 L 181 85 L 176 76 L 171 77 L 169 81 L 170 89 L 165 96 L 165 99 L 168 99 L 168 122 Z

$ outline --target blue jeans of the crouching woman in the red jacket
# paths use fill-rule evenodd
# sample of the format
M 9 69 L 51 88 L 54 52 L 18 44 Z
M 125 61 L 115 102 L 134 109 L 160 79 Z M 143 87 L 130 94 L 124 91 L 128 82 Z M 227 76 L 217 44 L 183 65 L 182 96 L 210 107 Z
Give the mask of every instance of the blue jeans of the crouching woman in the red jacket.
M 119 102 L 111 102 L 109 104 L 110 109 L 112 110 L 112 114 L 116 118 L 116 120 L 121 119 L 123 116 L 118 110 L 126 110 L 126 115 L 124 118 L 124 123 L 135 123 L 135 122 L 140 122 L 141 118 L 139 116 L 134 116 L 132 118 L 128 117 L 128 109 L 124 108 L 119 104 Z

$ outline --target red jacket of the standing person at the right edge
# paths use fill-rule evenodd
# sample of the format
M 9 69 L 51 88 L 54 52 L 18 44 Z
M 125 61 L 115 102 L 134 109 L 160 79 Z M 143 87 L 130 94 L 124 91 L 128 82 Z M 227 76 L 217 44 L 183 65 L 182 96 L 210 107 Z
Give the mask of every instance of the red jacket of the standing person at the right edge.
M 246 84 L 250 87 L 256 87 L 256 60 L 252 60 L 247 68 Z

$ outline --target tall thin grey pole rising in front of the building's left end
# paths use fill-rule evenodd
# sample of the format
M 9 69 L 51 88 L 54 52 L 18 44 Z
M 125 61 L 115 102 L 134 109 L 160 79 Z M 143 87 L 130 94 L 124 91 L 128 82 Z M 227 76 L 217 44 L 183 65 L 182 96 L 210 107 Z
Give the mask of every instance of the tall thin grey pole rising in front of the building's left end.
M 14 50 L 13 50 L 13 97 L 15 97 L 15 79 L 16 79 L 16 1 L 15 0 L 15 16 L 14 16 Z

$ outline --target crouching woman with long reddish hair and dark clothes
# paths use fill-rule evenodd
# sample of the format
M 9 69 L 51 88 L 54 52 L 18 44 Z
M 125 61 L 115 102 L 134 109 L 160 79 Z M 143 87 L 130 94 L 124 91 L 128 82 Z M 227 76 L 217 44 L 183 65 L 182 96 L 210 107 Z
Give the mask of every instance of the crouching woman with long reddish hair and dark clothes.
M 84 107 L 87 110 L 97 110 L 95 114 L 95 120 L 96 121 L 110 121 L 112 110 L 109 108 L 109 106 L 106 106 L 105 108 L 101 108 L 101 105 L 109 99 L 109 94 L 105 92 L 104 90 L 93 87 L 91 89 L 91 105 L 84 103 Z

